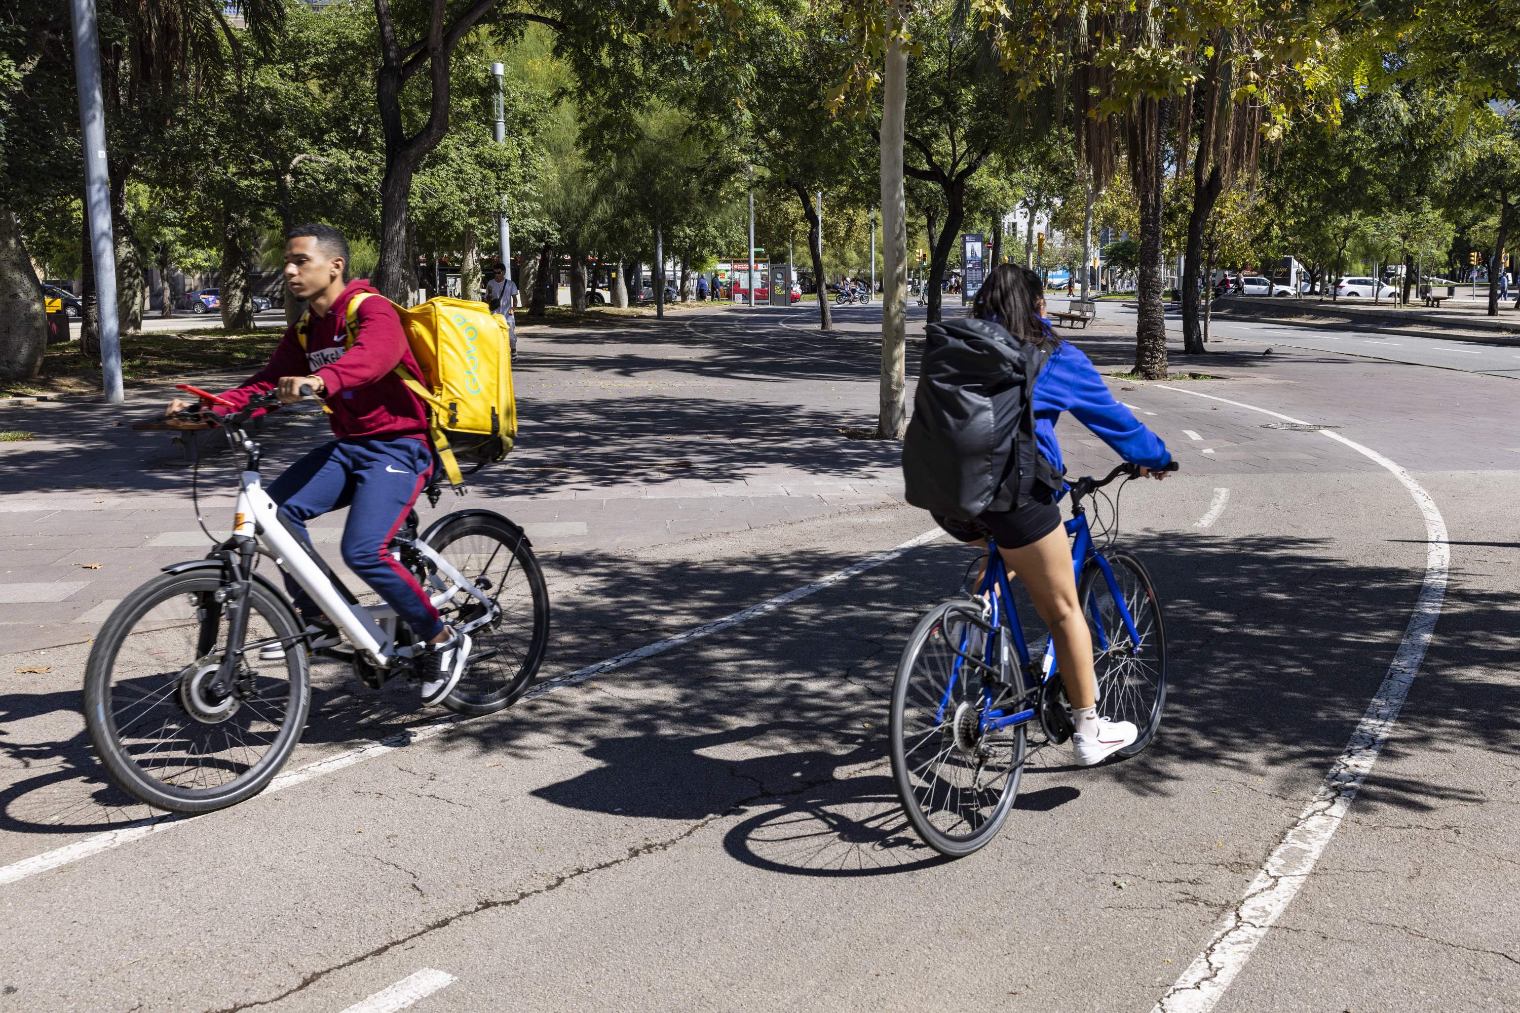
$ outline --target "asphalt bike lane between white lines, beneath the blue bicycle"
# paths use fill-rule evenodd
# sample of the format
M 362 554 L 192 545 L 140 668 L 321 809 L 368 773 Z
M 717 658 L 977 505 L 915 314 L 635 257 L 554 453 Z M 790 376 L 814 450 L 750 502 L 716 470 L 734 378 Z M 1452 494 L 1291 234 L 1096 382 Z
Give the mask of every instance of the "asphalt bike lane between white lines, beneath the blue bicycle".
M 526 1008 L 667 998 L 898 1008 L 942 996 L 942 966 L 986 948 L 993 963 L 1028 969 L 1031 981 L 1009 983 L 1014 995 L 1000 999 L 1011 1008 L 1081 1007 L 1070 983 L 1093 967 L 1119 983 L 1105 995 L 1154 1001 L 1190 958 L 1189 940 L 1207 934 L 1208 905 L 1239 895 L 1272 828 L 1297 816 L 1344 747 L 1408 620 L 1421 553 L 1418 518 L 1400 515 L 1386 478 L 1354 462 L 1322 483 L 1300 477 L 1324 471 L 1318 462 L 1269 466 L 1272 453 L 1300 453 L 1289 448 L 1312 434 L 1166 415 L 1158 392 L 1123 396 L 1208 437 L 1166 431 L 1173 447 L 1210 443 L 1190 451 L 1196 468 L 1183 478 L 1123 503 L 1134 518 L 1126 542 L 1169 600 L 1175 686 L 1163 738 L 1113 770 L 1053 762 L 1032 775 L 1026 805 L 976 858 L 920 864 L 900 819 L 894 829 L 885 750 L 866 727 L 877 712 L 885 724 L 876 697 L 901 638 L 965 565 L 964 550 L 933 545 L 733 638 L 515 708 L 492 735 L 394 753 L 144 843 L 143 857 L 123 849 L 29 881 L 41 892 L 8 896 L 9 911 L 85 910 L 91 925 L 44 916 L 35 937 L 52 952 L 38 960 L 23 946 L 17 970 L 52 967 L 32 981 L 73 981 L 74 999 L 138 995 L 164 1008 L 268 998 L 312 974 L 321 977 L 281 1008 L 344 1008 L 421 966 L 458 977 L 427 998 L 436 1008 L 499 1008 L 503 995 Z M 1252 443 L 1268 460 L 1208 460 L 1224 442 Z M 1189 533 L 1222 483 L 1228 509 Z M 787 566 L 786 576 L 809 566 L 818 576 L 854 560 L 841 545 L 897 544 L 883 536 L 923 529 L 917 512 L 872 513 L 803 525 L 812 533 L 790 551 L 775 530 L 724 536 L 722 550 L 743 563 L 736 571 L 772 573 L 730 577 L 708 603 L 763 597 L 760 585 L 775 586 Z M 1327 530 L 1325 518 L 1344 529 Z M 862 536 L 866 519 L 880 527 Z M 1400 536 L 1406 547 L 1388 544 Z M 644 580 L 701 588 L 695 563 L 714 551 L 692 548 Z M 632 560 L 628 574 L 637 580 L 649 562 Z M 1306 620 L 1306 597 L 1339 607 Z M 827 779 L 815 773 L 822 765 Z M 1221 785 L 1221 768 L 1240 784 Z M 736 805 L 743 811 L 730 814 Z M 454 813 L 465 806 L 483 811 Z M 828 875 L 836 863 L 894 872 Z M 454 875 L 453 890 L 473 893 L 450 893 Z M 195 898 L 217 901 L 195 911 Z M 125 939 L 102 940 L 94 969 L 62 974 L 70 937 L 94 940 L 103 928 Z M 157 940 L 169 943 L 143 958 Z M 395 945 L 354 963 L 385 943 Z M 233 987 L 204 970 L 163 980 L 169 960 L 222 969 Z M 32 981 L 29 998 L 40 995 Z

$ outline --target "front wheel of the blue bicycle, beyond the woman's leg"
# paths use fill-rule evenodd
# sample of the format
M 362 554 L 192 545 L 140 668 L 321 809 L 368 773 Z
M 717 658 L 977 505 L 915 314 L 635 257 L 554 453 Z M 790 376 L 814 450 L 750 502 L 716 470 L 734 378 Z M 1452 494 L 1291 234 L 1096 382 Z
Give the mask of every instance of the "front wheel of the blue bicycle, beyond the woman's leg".
M 1090 562 L 1078 597 L 1093 635 L 1093 671 L 1097 676 L 1097 711 L 1114 721 L 1134 721 L 1140 734 L 1119 756 L 1134 756 L 1155 737 L 1166 706 L 1166 624 L 1161 600 L 1145 565 L 1120 550 L 1105 554 L 1138 641 L 1129 635 L 1104 571 Z

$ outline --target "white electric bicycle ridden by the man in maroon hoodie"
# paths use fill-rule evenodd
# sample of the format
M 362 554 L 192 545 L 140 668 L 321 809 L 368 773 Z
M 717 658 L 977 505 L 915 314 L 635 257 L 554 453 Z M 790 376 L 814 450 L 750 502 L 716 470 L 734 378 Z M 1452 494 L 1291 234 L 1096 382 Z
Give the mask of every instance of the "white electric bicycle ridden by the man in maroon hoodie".
M 195 393 L 202 404 L 214 401 Z M 260 559 L 287 573 L 331 618 L 353 645 L 348 664 L 365 685 L 416 677 L 426 649 L 394 609 L 360 604 L 264 492 L 258 443 L 246 430 L 260 409 L 278 404 L 263 395 L 214 421 L 199 409 L 181 413 L 202 428 L 220 427 L 246 457 L 233 535 L 205 559 L 164 566 L 123 598 L 85 667 L 85 726 L 96 753 L 117 787 L 161 809 L 207 813 L 257 794 L 306 727 L 310 645 L 324 630 L 302 624 L 278 583 L 258 573 Z M 436 506 L 436 484 L 427 497 Z M 532 545 L 489 510 L 447 513 L 421 535 L 416 525 L 413 510 L 391 553 L 444 621 L 474 642 L 444 706 L 471 715 L 500 711 L 527 690 L 549 642 L 549 592 Z

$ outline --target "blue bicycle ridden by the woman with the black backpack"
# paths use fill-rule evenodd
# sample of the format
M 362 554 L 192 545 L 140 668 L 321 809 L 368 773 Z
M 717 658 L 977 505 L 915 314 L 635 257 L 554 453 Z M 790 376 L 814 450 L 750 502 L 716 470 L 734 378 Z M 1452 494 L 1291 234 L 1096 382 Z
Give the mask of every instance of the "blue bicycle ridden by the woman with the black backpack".
M 1175 471 L 1175 462 L 1167 469 Z M 1137 469 L 1120 465 L 1105 478 L 1079 478 L 1066 530 L 1093 635 L 1099 709 L 1140 729 L 1134 744 L 1116 753 L 1134 756 L 1151 743 L 1166 705 L 1161 601 L 1138 559 L 1099 551 L 1082 503 L 1120 475 L 1134 478 Z M 918 623 L 892 686 L 897 794 L 923 841 L 952 858 L 985 846 L 1008 819 L 1031 726 L 1043 735 L 1037 747 L 1061 744 L 1073 731 L 1055 645 L 1046 635 L 1031 653 L 996 545 L 986 557 L 974 594 L 936 606 Z M 1028 604 L 1024 611 L 1034 615 Z

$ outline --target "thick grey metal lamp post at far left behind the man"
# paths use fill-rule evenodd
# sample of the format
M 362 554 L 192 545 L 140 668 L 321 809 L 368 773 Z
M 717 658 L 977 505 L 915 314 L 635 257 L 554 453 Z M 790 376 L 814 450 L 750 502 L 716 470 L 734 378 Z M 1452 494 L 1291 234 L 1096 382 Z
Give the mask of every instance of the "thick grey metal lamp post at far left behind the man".
M 90 217 L 90 252 L 96 270 L 96 319 L 100 323 L 100 380 L 105 399 L 125 404 L 122 387 L 122 333 L 116 317 L 116 238 L 111 234 L 111 178 L 105 164 L 105 99 L 100 94 L 100 26 L 94 0 L 71 0 L 74 27 L 74 80 L 79 87 L 79 126 L 85 144 L 85 214 Z M 169 298 L 167 279 L 164 298 Z

